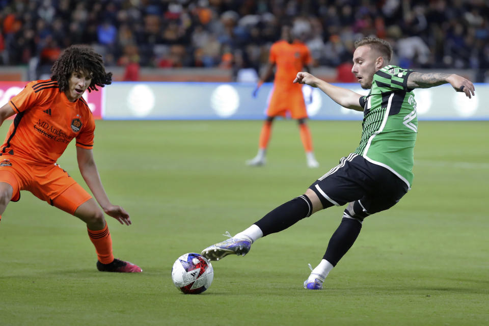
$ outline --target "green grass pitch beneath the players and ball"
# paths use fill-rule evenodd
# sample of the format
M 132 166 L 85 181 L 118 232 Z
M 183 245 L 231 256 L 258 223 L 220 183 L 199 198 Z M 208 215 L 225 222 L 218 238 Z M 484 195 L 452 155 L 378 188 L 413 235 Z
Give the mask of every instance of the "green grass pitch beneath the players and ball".
M 22 192 L 0 224 L 0 325 L 489 324 L 487 122 L 420 122 L 413 189 L 366 220 L 323 291 L 302 283 L 340 207 L 214 262 L 205 293 L 179 293 L 170 278 L 178 256 L 302 194 L 360 139 L 360 122 L 310 126 L 319 169 L 306 168 L 292 121 L 274 125 L 263 168 L 244 165 L 259 121 L 98 121 L 102 181 L 133 221 L 108 220 L 114 253 L 144 271 L 99 273 L 84 224 Z M 73 144 L 59 162 L 85 185 Z

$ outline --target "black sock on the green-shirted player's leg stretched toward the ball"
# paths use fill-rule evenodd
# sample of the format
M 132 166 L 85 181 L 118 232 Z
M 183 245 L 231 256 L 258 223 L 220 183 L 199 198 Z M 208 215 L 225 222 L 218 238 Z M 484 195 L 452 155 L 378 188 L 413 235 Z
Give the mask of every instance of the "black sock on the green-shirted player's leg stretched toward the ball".
M 275 208 L 258 222 L 254 223 L 263 236 L 280 232 L 312 213 L 312 204 L 307 196 L 299 196 Z

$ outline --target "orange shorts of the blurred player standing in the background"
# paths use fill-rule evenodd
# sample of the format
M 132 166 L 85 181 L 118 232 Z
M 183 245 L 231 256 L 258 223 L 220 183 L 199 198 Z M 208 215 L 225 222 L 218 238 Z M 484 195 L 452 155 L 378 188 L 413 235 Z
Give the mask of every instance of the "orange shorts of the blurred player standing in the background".
M 296 86 L 296 85 L 293 85 Z M 266 115 L 268 117 L 287 117 L 289 113 L 292 119 L 307 118 L 306 103 L 300 87 L 274 87 L 273 94 L 268 104 Z

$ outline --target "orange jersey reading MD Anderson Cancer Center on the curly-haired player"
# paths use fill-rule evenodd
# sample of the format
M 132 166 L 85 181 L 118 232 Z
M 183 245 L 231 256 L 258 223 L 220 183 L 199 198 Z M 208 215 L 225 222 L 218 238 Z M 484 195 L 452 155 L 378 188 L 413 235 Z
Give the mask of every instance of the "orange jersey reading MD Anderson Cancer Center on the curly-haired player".
M 80 97 L 70 102 L 58 83 L 35 80 L 10 100 L 17 113 L 1 152 L 36 164 L 53 164 L 68 143 L 91 149 L 95 120 L 87 102 Z

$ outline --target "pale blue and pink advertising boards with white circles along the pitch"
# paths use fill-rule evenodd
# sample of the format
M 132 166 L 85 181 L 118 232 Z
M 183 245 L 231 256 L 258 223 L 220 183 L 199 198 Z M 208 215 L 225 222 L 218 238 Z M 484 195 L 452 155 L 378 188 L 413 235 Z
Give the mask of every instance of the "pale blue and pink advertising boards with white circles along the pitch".
M 0 82 L 0 106 L 20 92 L 25 82 Z M 358 84 L 335 84 L 368 94 Z M 489 84 L 476 84 L 469 99 L 450 85 L 416 89 L 420 120 L 489 120 L 489 106 L 482 98 Z M 264 84 L 256 98 L 255 84 L 240 83 L 131 83 L 114 82 L 98 92 L 86 92 L 96 119 L 108 120 L 261 120 L 273 89 Z M 363 113 L 336 104 L 319 89 L 303 87 L 308 113 L 313 120 L 362 120 Z

